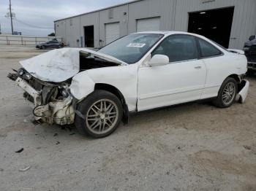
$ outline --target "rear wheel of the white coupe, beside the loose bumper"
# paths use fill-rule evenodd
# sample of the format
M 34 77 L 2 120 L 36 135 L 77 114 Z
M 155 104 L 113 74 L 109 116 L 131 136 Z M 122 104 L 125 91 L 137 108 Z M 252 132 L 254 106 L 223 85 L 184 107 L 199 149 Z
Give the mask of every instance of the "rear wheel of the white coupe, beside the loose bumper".
M 238 85 L 235 79 L 228 77 L 222 83 L 219 89 L 218 97 L 214 101 L 214 105 L 219 108 L 227 108 L 232 106 L 236 100 Z

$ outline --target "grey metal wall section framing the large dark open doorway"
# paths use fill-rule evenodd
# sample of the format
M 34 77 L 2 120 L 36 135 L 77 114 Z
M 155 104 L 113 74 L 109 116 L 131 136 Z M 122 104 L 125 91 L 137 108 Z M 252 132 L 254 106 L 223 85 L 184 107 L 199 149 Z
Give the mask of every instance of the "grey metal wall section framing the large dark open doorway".
M 230 34 L 230 48 L 241 49 L 249 34 L 255 33 L 255 0 L 215 0 L 203 3 L 202 0 L 176 0 L 175 30 L 187 31 L 189 12 L 197 12 L 223 7 L 235 7 L 233 25 Z

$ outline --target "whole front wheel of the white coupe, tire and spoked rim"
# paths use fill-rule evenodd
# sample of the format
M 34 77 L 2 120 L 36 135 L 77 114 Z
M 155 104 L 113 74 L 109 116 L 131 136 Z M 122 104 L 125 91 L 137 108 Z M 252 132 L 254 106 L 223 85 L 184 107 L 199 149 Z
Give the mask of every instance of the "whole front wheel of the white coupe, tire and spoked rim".
M 75 116 L 75 126 L 83 135 L 103 138 L 113 133 L 121 122 L 123 106 L 121 101 L 105 90 L 95 90 L 78 104 L 83 117 Z

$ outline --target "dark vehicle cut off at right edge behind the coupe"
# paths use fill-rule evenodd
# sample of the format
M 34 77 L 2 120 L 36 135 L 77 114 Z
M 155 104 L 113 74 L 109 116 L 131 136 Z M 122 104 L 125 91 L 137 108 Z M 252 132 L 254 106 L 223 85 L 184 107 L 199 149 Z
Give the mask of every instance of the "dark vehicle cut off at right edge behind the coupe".
M 244 52 L 248 61 L 249 73 L 256 72 L 256 36 L 249 37 L 249 41 L 244 44 Z

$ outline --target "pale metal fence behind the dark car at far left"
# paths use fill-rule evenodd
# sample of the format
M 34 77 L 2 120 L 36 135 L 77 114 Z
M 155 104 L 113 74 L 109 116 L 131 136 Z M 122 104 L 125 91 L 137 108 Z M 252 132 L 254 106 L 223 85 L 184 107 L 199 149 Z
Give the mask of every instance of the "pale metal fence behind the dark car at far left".
M 62 42 L 62 38 L 58 36 L 21 36 L 21 35 L 4 35 L 0 34 L 0 44 L 8 45 L 37 45 L 42 42 L 57 39 Z

